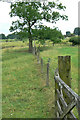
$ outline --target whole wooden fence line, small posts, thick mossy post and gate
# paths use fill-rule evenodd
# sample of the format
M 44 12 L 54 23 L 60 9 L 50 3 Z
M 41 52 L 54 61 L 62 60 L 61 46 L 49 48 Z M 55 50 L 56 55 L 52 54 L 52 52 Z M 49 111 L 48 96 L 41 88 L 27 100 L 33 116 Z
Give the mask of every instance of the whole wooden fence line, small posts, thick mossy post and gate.
M 35 50 L 37 61 L 40 63 L 40 52 Z M 49 86 L 49 66 L 50 58 L 47 63 L 46 86 Z M 41 73 L 43 73 L 43 59 L 41 58 Z M 72 110 L 76 107 L 80 119 L 80 96 L 71 89 L 71 57 L 58 56 L 58 68 L 54 74 L 55 80 L 55 116 L 63 120 L 74 118 Z

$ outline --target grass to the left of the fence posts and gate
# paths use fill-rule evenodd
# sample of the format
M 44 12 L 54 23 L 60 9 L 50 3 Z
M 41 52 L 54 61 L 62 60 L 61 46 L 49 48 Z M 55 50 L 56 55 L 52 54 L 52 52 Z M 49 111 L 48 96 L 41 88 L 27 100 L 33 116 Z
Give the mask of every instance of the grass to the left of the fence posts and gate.
M 35 57 L 22 49 L 2 54 L 2 117 L 53 118 L 54 88 L 45 86 Z

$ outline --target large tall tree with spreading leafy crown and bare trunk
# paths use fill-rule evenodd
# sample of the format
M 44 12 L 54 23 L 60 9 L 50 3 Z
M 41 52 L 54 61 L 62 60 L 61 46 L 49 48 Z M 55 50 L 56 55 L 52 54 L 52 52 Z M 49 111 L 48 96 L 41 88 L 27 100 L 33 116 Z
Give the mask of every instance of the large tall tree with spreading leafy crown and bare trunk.
M 55 10 L 54 10 L 55 8 Z M 58 10 L 65 10 L 65 6 L 58 2 L 16 2 L 11 4 L 10 16 L 18 16 L 19 20 L 12 22 L 10 31 L 28 31 L 29 51 L 32 52 L 32 28 L 45 20 L 55 23 L 60 18 L 67 20 L 66 15 L 61 15 Z

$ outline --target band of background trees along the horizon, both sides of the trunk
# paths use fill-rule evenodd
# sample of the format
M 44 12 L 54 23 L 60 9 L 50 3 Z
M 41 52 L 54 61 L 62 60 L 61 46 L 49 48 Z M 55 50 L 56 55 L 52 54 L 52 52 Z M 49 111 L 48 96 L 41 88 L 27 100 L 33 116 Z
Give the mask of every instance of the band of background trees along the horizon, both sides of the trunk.
M 62 32 L 58 28 L 50 28 L 47 26 L 40 25 L 39 28 L 32 29 L 32 37 L 33 39 L 38 39 L 41 43 L 44 43 L 45 40 L 51 40 L 53 39 L 63 39 L 64 37 L 71 37 L 79 35 L 80 36 L 80 28 L 76 27 L 74 28 L 73 33 L 70 31 L 66 31 L 66 35 L 63 35 Z M 12 34 L 8 34 L 7 36 L 3 33 L 0 34 L 0 39 L 17 39 L 17 40 L 23 40 L 24 38 L 28 38 L 28 32 L 20 31 L 20 32 L 14 32 Z M 57 41 L 55 41 L 57 42 Z

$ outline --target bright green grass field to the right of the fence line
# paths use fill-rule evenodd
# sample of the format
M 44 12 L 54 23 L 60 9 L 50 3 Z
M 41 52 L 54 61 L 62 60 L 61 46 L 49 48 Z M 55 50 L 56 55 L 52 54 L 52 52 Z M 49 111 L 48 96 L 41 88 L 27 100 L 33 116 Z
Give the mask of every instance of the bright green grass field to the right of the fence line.
M 54 47 L 50 47 L 49 49 L 41 52 L 41 56 L 45 62 L 48 61 L 48 58 L 51 58 L 50 66 L 54 70 L 58 66 L 58 56 L 66 55 L 71 56 L 71 86 L 72 89 L 78 93 L 78 46 L 55 45 Z

